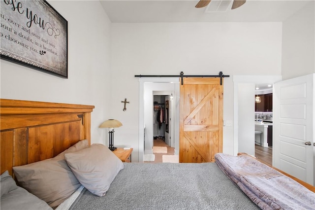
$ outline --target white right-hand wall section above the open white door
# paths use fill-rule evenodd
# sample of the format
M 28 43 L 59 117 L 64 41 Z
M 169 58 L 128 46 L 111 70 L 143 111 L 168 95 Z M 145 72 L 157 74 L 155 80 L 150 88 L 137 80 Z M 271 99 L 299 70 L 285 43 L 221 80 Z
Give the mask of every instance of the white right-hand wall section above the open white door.
M 315 73 L 315 1 L 283 22 L 283 79 Z

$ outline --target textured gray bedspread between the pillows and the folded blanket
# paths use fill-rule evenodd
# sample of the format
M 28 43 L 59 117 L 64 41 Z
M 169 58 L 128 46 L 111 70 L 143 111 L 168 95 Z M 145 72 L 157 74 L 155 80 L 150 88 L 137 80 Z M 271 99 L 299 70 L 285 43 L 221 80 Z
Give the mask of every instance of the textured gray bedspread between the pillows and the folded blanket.
M 71 210 L 259 209 L 216 163 L 124 163 L 104 197 L 88 190 Z

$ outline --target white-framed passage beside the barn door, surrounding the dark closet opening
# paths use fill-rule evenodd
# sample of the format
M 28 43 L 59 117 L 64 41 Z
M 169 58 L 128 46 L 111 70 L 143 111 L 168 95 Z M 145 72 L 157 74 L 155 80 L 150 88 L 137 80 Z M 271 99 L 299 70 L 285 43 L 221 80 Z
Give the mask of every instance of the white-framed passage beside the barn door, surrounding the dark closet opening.
M 153 106 L 154 95 L 173 95 L 171 103 L 170 144 L 179 153 L 179 78 L 140 77 L 139 78 L 139 162 L 144 154 L 153 154 Z

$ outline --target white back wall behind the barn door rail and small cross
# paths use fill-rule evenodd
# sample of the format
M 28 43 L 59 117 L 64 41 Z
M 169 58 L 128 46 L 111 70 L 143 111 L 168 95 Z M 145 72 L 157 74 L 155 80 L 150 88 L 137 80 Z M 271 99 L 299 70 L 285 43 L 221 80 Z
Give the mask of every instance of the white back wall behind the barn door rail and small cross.
M 233 121 L 233 75 L 281 75 L 282 23 L 112 24 L 112 112 L 123 122 L 115 142 L 138 160 L 139 82 L 136 74 L 223 74 L 223 119 Z M 124 112 L 121 101 L 127 98 Z M 142 110 L 141 110 L 142 111 Z M 233 125 L 223 152 L 233 154 Z

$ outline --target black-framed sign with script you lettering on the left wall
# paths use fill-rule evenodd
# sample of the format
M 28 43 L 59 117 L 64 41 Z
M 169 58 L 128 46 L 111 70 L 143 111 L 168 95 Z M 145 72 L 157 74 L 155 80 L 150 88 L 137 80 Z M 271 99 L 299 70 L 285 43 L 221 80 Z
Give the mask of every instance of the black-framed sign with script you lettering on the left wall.
M 0 1 L 1 59 L 68 78 L 68 22 L 45 0 Z

